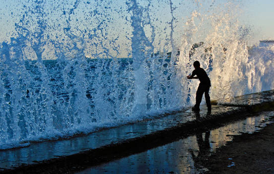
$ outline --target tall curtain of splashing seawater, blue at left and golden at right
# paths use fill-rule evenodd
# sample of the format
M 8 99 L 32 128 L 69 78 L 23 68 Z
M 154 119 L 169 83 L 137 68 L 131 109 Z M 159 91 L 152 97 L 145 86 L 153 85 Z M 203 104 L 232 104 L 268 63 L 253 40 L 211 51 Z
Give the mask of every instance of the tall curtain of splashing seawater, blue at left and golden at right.
M 237 5 L 203 3 L 17 4 L 13 34 L 0 46 L 0 149 L 189 107 L 195 60 L 212 99 L 273 89 L 274 47 L 248 50 Z

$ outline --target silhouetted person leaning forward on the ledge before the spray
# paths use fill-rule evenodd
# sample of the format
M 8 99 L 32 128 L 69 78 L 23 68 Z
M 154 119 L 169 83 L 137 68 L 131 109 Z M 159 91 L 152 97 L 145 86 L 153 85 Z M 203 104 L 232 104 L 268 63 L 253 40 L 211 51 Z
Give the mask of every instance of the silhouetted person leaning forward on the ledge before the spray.
M 192 72 L 191 76 L 187 76 L 188 79 L 199 79 L 200 84 L 196 92 L 196 104 L 192 110 L 200 110 L 200 103 L 202 101 L 203 94 L 206 97 L 206 106 L 208 110 L 211 110 L 209 88 L 211 87 L 210 80 L 206 74 L 206 71 L 200 67 L 200 62 L 195 61 L 193 63 L 195 70 Z

